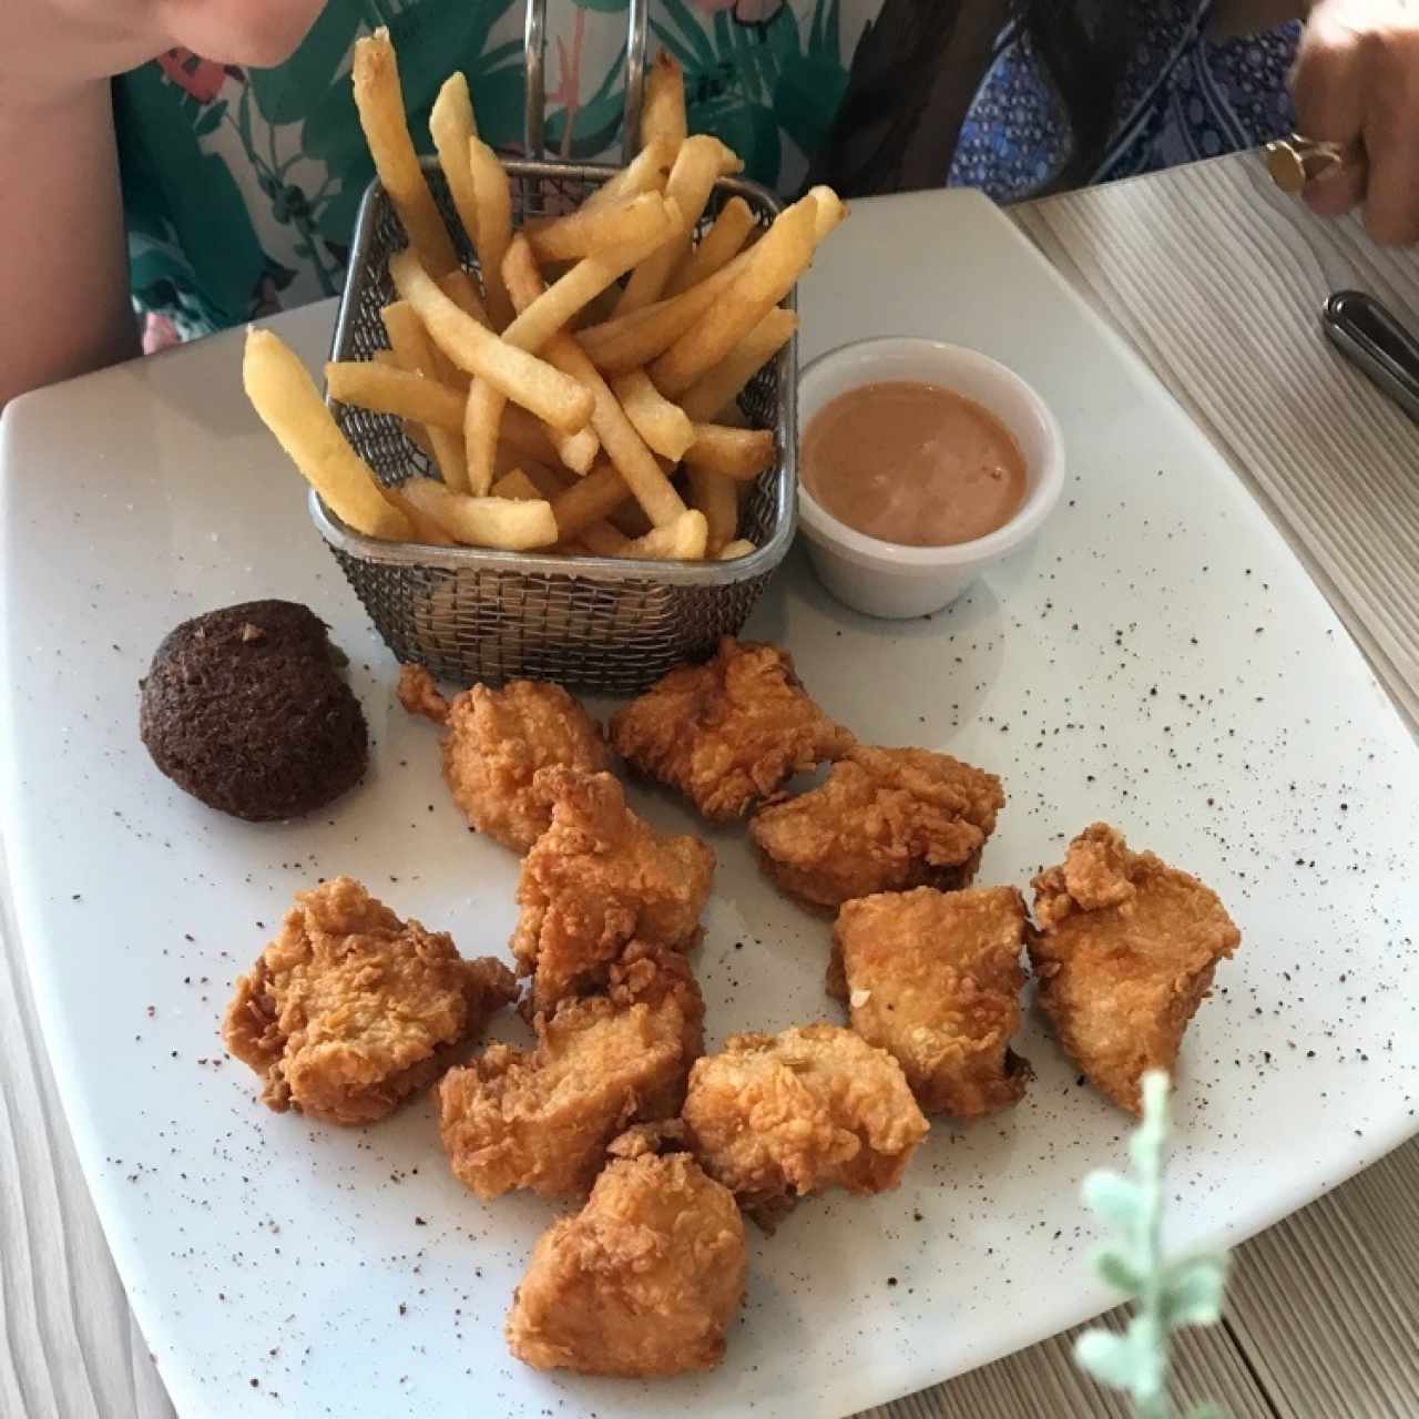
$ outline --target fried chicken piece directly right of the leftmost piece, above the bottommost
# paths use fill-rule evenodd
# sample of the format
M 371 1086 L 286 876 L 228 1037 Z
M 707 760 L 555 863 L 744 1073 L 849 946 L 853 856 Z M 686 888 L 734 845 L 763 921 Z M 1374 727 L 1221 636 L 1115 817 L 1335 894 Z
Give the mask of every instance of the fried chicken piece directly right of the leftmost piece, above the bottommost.
M 480 1198 L 585 1195 L 627 1124 L 680 1111 L 702 1022 L 690 962 L 631 942 L 607 995 L 536 1016 L 535 1051 L 491 1044 L 444 1076 L 440 1127 L 454 1174 Z

